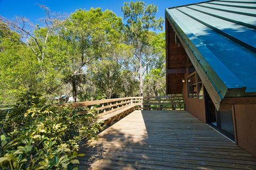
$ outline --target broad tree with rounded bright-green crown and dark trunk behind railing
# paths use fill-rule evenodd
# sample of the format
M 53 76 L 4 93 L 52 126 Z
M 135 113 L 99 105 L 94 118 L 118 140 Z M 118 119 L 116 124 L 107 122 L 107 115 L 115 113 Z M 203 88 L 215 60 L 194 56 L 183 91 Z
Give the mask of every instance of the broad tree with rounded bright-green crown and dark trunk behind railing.
M 91 8 L 77 10 L 65 22 L 62 34 L 70 44 L 70 74 L 67 81 L 73 86 L 73 97 L 77 100 L 77 87 L 90 63 L 103 57 L 113 48 L 113 40 L 122 30 L 122 19 L 112 11 Z

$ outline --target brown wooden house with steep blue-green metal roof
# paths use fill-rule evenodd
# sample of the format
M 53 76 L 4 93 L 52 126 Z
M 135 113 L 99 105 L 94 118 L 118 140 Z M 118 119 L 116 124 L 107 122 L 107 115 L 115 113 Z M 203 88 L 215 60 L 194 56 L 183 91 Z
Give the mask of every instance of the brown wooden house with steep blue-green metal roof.
M 165 10 L 166 90 L 256 156 L 256 1 Z

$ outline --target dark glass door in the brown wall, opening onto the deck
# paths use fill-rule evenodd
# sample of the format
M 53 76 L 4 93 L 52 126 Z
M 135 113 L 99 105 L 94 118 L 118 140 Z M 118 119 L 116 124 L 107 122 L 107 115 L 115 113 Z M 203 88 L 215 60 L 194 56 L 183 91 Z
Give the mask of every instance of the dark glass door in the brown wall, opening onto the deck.
M 206 89 L 204 91 L 207 124 L 234 140 L 232 111 L 217 111 Z

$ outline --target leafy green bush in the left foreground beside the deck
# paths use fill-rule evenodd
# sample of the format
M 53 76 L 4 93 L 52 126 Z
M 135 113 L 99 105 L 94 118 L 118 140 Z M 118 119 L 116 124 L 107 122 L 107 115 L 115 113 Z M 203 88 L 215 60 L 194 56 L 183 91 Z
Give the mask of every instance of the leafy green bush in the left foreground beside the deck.
M 79 114 L 28 92 L 1 123 L 0 169 L 77 169 L 78 142 L 101 129 L 94 110 Z

